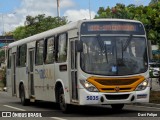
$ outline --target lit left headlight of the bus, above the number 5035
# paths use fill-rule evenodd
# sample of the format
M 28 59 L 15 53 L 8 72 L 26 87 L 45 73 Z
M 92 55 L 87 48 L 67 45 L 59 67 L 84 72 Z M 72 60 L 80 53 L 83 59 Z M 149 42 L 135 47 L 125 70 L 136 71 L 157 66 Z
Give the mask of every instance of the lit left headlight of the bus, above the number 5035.
M 93 84 L 87 82 L 86 80 L 80 80 L 80 83 L 86 90 L 90 92 L 98 92 L 98 89 Z

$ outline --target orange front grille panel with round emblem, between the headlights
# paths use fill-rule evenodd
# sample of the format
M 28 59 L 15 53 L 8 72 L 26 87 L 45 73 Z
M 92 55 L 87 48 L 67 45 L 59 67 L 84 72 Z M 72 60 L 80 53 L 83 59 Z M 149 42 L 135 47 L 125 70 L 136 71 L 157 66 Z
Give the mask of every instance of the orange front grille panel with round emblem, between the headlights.
M 131 92 L 144 81 L 143 76 L 134 77 L 120 77 L 120 78 L 102 78 L 102 77 L 89 77 L 88 82 L 92 83 L 100 92 L 118 93 L 118 92 Z

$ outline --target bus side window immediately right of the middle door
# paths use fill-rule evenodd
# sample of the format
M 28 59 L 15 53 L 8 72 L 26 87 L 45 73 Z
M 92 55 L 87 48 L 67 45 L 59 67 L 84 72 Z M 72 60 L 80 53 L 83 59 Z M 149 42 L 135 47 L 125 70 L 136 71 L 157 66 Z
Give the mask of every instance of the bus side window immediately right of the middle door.
M 43 64 L 43 48 L 44 48 L 44 41 L 40 40 L 36 42 L 36 65 Z

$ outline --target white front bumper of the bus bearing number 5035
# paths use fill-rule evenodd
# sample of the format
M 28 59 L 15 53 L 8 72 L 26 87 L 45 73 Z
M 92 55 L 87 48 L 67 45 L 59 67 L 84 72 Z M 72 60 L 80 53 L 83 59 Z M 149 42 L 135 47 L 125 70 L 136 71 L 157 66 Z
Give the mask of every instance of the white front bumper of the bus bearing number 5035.
M 144 103 L 149 102 L 150 87 L 143 91 L 121 93 L 88 92 L 80 89 L 79 93 L 80 105 Z

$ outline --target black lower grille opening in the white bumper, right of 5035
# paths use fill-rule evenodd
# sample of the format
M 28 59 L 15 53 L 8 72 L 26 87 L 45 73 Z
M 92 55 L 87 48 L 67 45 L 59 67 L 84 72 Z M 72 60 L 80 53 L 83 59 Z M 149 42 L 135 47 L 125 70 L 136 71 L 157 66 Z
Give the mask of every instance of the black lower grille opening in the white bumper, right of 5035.
M 108 100 L 121 100 L 121 99 L 127 99 L 129 97 L 129 94 L 123 94 L 123 95 L 105 95 L 105 97 Z

